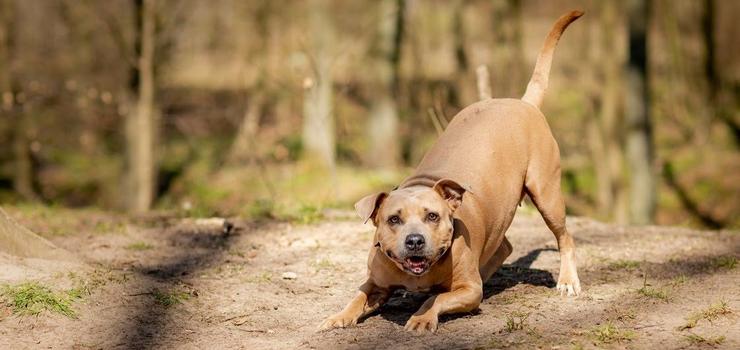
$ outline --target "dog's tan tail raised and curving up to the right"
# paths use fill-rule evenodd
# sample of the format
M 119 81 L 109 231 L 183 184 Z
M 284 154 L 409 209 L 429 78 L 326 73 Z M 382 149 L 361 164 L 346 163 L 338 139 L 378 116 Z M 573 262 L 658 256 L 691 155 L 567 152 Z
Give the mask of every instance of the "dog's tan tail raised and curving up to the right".
M 542 48 L 540 49 L 540 55 L 537 57 L 537 64 L 534 66 L 532 79 L 529 80 L 527 91 L 522 97 L 523 101 L 538 109 L 542 106 L 542 101 L 545 99 L 545 91 L 547 91 L 547 80 L 550 76 L 550 66 L 552 66 L 552 54 L 555 51 L 555 46 L 558 45 L 560 36 L 563 35 L 565 28 L 568 28 L 569 24 L 582 15 L 583 11 L 568 12 L 560 16 L 558 21 L 555 22 L 555 25 L 552 26 L 550 34 L 547 34 L 545 43 L 542 44 Z

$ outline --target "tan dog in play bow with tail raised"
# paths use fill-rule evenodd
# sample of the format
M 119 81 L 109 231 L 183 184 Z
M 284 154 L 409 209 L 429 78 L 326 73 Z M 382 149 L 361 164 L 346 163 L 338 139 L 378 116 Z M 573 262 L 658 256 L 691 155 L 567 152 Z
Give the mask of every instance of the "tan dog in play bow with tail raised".
M 483 283 L 511 254 L 504 234 L 525 194 L 557 238 L 557 290 L 580 293 L 573 239 L 565 228 L 560 153 L 539 108 L 555 46 L 581 15 L 573 11 L 555 23 L 521 100 L 489 99 L 465 108 L 413 176 L 390 194 L 355 204 L 365 222 L 372 219 L 377 228 L 367 282 L 318 330 L 356 324 L 400 288 L 441 292 L 409 319 L 407 330 L 434 332 L 439 315 L 474 310 Z

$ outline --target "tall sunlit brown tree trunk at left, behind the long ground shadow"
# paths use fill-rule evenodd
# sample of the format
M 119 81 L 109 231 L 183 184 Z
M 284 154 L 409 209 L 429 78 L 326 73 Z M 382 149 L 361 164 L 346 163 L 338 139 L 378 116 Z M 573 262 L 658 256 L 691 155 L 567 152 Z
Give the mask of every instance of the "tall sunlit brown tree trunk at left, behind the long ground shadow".
M 138 58 L 138 91 L 136 108 L 127 116 L 128 146 L 128 209 L 149 210 L 154 200 L 155 183 L 155 115 L 154 115 L 154 0 L 136 0 L 136 16 L 140 16 L 140 47 Z

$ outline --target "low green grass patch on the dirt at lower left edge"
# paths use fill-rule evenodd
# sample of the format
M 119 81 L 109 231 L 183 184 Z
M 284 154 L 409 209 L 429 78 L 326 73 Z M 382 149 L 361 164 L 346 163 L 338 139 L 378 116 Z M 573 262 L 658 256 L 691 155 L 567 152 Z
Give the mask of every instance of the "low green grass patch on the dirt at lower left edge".
M 77 312 L 72 309 L 73 297 L 69 293 L 55 293 L 51 288 L 38 282 L 25 282 L 16 285 L 6 285 L 0 294 L 9 299 L 13 312 L 19 315 L 39 315 L 43 311 L 77 318 Z

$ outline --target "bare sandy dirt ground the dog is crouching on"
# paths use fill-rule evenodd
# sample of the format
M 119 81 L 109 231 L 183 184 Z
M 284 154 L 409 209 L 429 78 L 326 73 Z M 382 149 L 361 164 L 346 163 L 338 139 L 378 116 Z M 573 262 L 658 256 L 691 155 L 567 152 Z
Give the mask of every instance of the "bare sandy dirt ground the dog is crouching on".
M 43 218 L 6 210 L 50 231 Z M 397 292 L 358 326 L 315 333 L 363 281 L 372 226 L 230 220 L 225 234 L 215 220 L 69 216 L 69 230 L 46 236 L 84 265 L 0 255 L 0 282 L 87 286 L 73 305 L 79 317 L 0 306 L 0 348 L 740 348 L 737 231 L 569 218 L 584 292 L 561 297 L 555 240 L 541 218 L 520 213 L 507 233 L 514 253 L 476 312 L 443 316 L 433 335 L 409 333 L 403 326 L 428 295 Z

